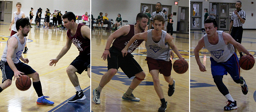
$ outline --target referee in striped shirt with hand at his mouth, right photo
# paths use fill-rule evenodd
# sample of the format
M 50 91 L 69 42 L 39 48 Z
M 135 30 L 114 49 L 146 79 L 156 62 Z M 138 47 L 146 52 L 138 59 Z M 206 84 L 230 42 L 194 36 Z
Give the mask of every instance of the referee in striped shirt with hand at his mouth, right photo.
M 245 15 L 246 15 L 245 11 L 243 11 L 241 7 L 242 7 L 242 2 L 237 1 L 236 10 L 232 13 L 232 16 L 231 16 L 231 23 L 229 25 L 229 32 L 228 32 L 230 34 L 230 30 L 233 27 L 230 35 L 236 40 L 236 42 L 240 44 L 242 42 L 243 24 L 245 22 Z M 242 52 L 238 49 L 237 51 L 239 52 L 240 57 L 242 57 L 243 56 Z M 236 52 L 236 48 L 235 48 L 235 52 Z

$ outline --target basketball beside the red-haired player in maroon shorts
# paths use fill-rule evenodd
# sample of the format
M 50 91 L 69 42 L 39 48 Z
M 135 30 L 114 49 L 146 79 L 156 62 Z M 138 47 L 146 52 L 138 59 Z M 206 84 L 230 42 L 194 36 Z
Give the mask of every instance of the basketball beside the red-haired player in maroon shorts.
M 173 70 L 178 74 L 185 73 L 188 70 L 188 62 L 184 59 L 174 61 Z

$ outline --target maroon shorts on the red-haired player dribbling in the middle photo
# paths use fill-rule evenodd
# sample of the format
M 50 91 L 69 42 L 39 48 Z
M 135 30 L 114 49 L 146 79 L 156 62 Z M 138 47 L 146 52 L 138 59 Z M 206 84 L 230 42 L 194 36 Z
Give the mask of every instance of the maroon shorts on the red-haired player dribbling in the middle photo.
M 156 60 L 153 58 L 147 57 L 147 64 L 149 71 L 151 70 L 159 70 L 160 74 L 164 76 L 171 76 L 172 71 L 172 60 Z

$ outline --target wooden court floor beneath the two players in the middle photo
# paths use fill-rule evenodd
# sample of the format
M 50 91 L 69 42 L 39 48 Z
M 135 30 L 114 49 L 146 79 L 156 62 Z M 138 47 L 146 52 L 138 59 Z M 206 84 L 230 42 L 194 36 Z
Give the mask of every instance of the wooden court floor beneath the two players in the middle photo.
M 92 30 L 92 90 L 98 87 L 102 75 L 107 71 L 107 60 L 101 58 L 108 36 L 112 31 Z M 174 44 L 179 48 L 182 56 L 189 62 L 189 35 L 173 34 Z M 122 100 L 124 92 L 131 84 L 132 77 L 129 79 L 121 69 L 103 88 L 100 94 L 100 104 L 95 104 L 92 100 L 93 112 L 156 112 L 160 107 L 160 100 L 153 86 L 152 76 L 148 71 L 146 59 L 145 42 L 134 52 L 134 59 L 140 64 L 146 73 L 146 78 L 133 91 L 135 97 L 140 98 L 139 102 Z M 177 55 L 175 54 L 175 58 Z M 176 60 L 176 59 L 175 59 Z M 162 85 L 165 100 L 167 104 L 167 112 L 188 112 L 189 111 L 189 72 L 177 74 L 172 70 L 172 77 L 175 80 L 175 92 L 169 97 L 167 95 L 168 83 L 165 82 L 162 74 L 159 75 L 160 84 Z M 92 91 L 91 91 L 92 94 Z

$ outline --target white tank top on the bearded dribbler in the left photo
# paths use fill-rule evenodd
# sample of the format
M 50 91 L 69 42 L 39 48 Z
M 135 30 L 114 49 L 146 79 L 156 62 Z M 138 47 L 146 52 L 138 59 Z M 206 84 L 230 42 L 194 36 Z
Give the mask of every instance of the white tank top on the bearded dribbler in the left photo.
M 23 44 L 21 44 L 19 37 L 16 34 L 14 34 L 13 36 L 16 37 L 16 39 L 18 40 L 18 47 L 17 47 L 17 49 L 14 49 L 14 52 L 13 52 L 13 55 L 12 55 L 12 61 L 13 61 L 13 63 L 17 64 L 19 62 L 20 56 L 21 56 L 21 54 L 22 54 L 22 52 L 25 48 L 27 38 L 24 36 L 25 42 Z M 8 43 L 8 40 L 7 40 L 7 43 Z M 5 48 L 4 48 L 2 58 L 1 58 L 1 60 L 3 60 L 3 61 L 7 61 L 6 60 L 7 49 L 8 49 L 8 47 L 7 47 L 7 44 L 6 44 Z

